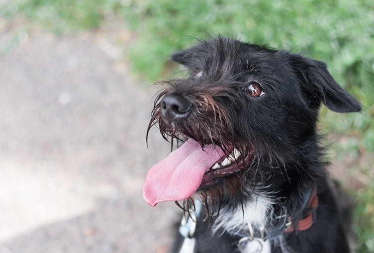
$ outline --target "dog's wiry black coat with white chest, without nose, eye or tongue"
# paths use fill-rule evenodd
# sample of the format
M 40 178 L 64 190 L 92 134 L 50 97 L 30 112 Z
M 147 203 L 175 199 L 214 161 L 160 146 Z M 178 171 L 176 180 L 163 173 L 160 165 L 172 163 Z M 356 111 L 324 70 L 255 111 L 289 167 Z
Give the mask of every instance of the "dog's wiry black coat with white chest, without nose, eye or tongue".
M 235 231 L 243 230 L 246 222 L 261 221 L 270 230 L 282 226 L 285 215 L 302 218 L 305 198 L 313 188 L 318 189 L 322 218 L 308 231 L 273 240 L 272 252 L 297 252 L 300 247 L 306 253 L 349 252 L 327 186 L 328 163 L 316 122 L 321 102 L 336 112 L 359 111 L 361 106 L 336 84 L 326 65 L 220 36 L 202 40 L 172 59 L 185 65 L 189 74 L 186 79 L 159 83 L 163 89 L 155 99 L 149 128 L 158 125 L 172 143 L 192 138 L 202 148 L 214 144 L 227 155 L 233 149 L 241 154 L 235 158 L 240 172 L 215 178 L 195 194 L 205 205 L 204 220 L 213 221 L 202 222 L 201 217 L 197 252 L 235 251 L 240 239 Z M 265 95 L 246 93 L 253 82 Z M 163 118 L 160 101 L 168 94 L 178 94 L 191 104 L 187 118 L 172 122 Z M 182 208 L 192 205 L 189 198 Z M 256 212 L 264 219 L 253 220 Z

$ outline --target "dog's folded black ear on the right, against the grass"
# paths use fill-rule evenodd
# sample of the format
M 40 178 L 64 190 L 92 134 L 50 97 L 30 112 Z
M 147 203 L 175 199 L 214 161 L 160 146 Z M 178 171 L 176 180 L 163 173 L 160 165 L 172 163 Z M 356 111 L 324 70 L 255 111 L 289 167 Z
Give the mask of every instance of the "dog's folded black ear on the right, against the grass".
M 327 108 L 335 112 L 361 110 L 360 102 L 335 82 L 325 63 L 299 55 L 293 55 L 292 58 L 296 72 L 305 81 L 301 89 L 306 92 L 309 105 L 319 105 L 322 101 Z

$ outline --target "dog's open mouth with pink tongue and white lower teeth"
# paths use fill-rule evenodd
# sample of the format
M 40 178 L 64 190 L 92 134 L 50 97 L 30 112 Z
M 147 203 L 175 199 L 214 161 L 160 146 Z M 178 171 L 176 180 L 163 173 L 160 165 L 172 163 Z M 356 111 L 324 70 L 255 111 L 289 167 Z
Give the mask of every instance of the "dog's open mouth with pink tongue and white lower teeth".
M 202 149 L 190 138 L 149 170 L 143 197 L 151 206 L 187 199 L 197 189 L 213 184 L 215 179 L 241 171 L 241 160 L 236 149 L 227 155 L 217 145 Z

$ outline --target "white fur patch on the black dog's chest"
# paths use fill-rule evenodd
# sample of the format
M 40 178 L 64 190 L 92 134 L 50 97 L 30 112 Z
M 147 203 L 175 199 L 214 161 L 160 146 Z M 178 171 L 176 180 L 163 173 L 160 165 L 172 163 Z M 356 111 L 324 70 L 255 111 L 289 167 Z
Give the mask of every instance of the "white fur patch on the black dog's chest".
M 268 221 L 267 215 L 271 213 L 269 210 L 272 207 L 272 200 L 265 195 L 258 195 L 253 201 L 248 202 L 235 208 L 234 210 L 223 209 L 213 226 L 213 232 L 217 232 L 219 228 L 224 231 L 235 234 L 241 230 L 248 230 L 248 224 L 258 229 L 265 228 Z M 269 240 L 255 239 L 250 242 L 247 241 L 243 245 L 243 253 L 271 253 L 271 245 Z

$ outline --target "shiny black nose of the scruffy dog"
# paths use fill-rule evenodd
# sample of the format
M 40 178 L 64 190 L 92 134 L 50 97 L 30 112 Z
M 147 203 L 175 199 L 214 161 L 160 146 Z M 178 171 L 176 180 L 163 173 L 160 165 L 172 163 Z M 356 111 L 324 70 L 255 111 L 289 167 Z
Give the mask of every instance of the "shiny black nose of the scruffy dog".
M 186 118 L 190 109 L 191 103 L 178 94 L 165 95 L 161 100 L 161 114 L 169 121 Z

